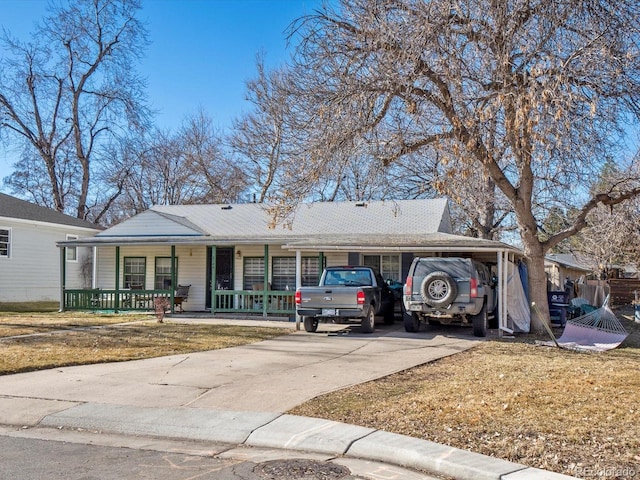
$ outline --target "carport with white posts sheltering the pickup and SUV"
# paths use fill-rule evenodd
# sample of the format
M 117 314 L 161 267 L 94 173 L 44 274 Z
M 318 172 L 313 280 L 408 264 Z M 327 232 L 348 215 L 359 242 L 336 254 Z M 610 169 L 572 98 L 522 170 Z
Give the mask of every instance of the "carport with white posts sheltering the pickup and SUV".
M 313 236 L 305 240 L 291 241 L 283 245 L 284 249 L 296 253 L 296 285 L 300 286 L 302 254 L 319 252 L 349 252 L 351 254 L 369 252 L 388 252 L 402 254 L 403 258 L 415 256 L 463 256 L 473 258 L 487 265 L 495 266 L 498 276 L 498 331 L 499 334 L 513 333 L 508 324 L 507 299 L 509 298 L 509 264 L 516 264 L 524 254 L 521 250 L 503 242 L 471 238 L 447 233 L 418 235 L 379 235 L 358 236 Z M 403 264 L 403 279 L 406 278 L 408 265 Z M 299 321 L 299 319 L 297 319 Z

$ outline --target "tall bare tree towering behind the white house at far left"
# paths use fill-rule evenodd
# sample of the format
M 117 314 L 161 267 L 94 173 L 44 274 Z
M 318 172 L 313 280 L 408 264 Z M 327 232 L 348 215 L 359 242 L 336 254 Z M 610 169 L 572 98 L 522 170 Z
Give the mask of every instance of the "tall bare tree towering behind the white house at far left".
M 3 42 L 10 55 L 0 65 L 0 130 L 24 140 L 25 156 L 41 159 L 48 185 L 19 163 L 7 179 L 42 184 L 34 199 L 64 212 L 89 213 L 92 161 L 100 147 L 146 121 L 144 81 L 135 60 L 146 46 L 136 19 L 138 0 L 71 0 L 51 4 L 32 42 Z M 69 176 L 73 172 L 73 176 Z M 73 184 L 73 189 L 68 189 Z M 73 192 L 73 193 L 71 193 Z M 73 202 L 71 201 L 73 199 Z

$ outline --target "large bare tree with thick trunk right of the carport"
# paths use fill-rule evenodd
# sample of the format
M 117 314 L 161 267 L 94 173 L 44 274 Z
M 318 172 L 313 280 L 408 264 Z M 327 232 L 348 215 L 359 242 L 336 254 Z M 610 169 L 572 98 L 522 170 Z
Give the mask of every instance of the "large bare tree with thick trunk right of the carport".
M 358 136 L 387 163 L 432 149 L 490 179 L 519 228 L 540 331 L 545 252 L 640 192 L 579 188 L 640 114 L 639 19 L 631 0 L 343 0 L 295 25 L 291 82 L 325 145 Z M 542 239 L 538 219 L 559 204 L 578 214 Z

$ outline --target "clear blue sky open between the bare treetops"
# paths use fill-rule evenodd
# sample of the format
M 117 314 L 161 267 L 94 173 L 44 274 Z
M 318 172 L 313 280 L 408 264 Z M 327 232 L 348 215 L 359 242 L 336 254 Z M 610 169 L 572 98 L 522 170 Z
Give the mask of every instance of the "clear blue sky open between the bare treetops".
M 47 0 L 0 0 L 0 27 L 28 39 Z M 156 125 L 175 130 L 203 108 L 221 128 L 248 108 L 245 82 L 264 52 L 268 66 L 284 62 L 286 29 L 321 0 L 142 0 L 151 45 L 139 73 L 147 77 Z M 13 155 L 0 146 L 0 182 Z M 1 189 L 1 187 L 0 187 Z

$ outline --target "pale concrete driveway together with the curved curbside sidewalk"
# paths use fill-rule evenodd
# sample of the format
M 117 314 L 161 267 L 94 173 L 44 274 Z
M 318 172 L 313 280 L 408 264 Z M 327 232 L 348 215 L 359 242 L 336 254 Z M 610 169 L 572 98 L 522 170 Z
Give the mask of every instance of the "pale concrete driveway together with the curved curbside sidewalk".
M 207 321 L 223 319 L 172 319 Z M 233 320 L 279 326 L 290 322 Z M 321 325 L 320 330 L 324 326 Z M 318 395 L 473 346 L 467 336 L 295 331 L 241 347 L 2 377 L 0 424 L 81 429 L 401 465 L 459 479 L 571 478 L 432 442 L 285 412 Z M 23 428 L 24 427 L 24 428 Z M 398 477 L 394 477 L 398 478 Z

